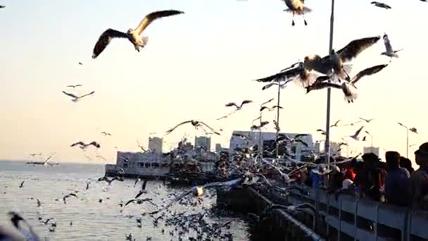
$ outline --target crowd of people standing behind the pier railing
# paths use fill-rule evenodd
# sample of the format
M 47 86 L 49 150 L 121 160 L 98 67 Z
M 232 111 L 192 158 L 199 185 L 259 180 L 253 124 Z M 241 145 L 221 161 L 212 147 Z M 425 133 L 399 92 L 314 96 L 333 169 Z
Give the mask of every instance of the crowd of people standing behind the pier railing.
M 409 159 L 394 151 L 386 152 L 385 162 L 373 153 L 361 158 L 363 161 L 352 159 L 332 166 L 328 172 L 322 165 L 308 168 L 298 180 L 329 193 L 351 192 L 358 198 L 428 210 L 428 142 L 415 152 L 417 170 Z M 324 161 L 317 159 L 315 163 Z

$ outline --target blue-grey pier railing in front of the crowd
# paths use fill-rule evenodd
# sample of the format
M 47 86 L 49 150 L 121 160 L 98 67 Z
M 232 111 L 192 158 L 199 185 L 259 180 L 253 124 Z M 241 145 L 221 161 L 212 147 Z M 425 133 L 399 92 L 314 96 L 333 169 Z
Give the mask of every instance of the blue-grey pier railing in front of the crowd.
M 325 216 L 327 233 L 335 230 L 337 240 L 428 240 L 428 211 L 307 190 L 308 195 L 291 190 L 281 198 L 313 204 Z

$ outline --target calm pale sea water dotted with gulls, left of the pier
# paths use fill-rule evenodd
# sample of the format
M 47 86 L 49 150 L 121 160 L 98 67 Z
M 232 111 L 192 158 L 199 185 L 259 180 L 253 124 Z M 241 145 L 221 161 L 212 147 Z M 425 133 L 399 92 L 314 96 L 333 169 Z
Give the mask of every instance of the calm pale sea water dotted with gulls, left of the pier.
M 104 167 L 101 165 L 61 163 L 45 167 L 0 162 L 0 225 L 8 223 L 8 211 L 18 211 L 46 240 L 125 240 L 125 235 L 130 233 L 136 240 L 146 240 L 148 236 L 153 241 L 178 240 L 177 234 L 170 236 L 170 230 L 174 230 L 175 226 L 164 227 L 164 221 L 160 220 L 156 228 L 153 227 L 153 218 L 149 215 L 141 216 L 141 213 L 156 210 L 150 204 L 129 204 L 120 212 L 120 201 L 132 199 L 141 188 L 141 185 L 134 187 L 134 180 L 113 181 L 109 187 L 105 182 L 92 181 L 89 190 L 85 190 L 87 178 L 100 178 L 103 174 Z M 141 197 L 151 197 L 157 204 L 162 203 L 161 198 L 169 192 L 183 191 L 156 181 L 147 183 L 146 190 L 149 193 Z M 70 197 L 64 204 L 63 196 L 70 192 L 75 192 L 78 198 Z M 37 207 L 37 199 L 42 202 L 42 206 Z M 99 199 L 102 199 L 101 203 Z M 213 204 L 215 197 L 204 197 L 201 205 L 175 204 L 171 209 L 179 214 L 191 214 L 201 211 L 202 206 L 210 207 Z M 129 218 L 130 215 L 134 217 Z M 57 224 L 55 231 L 49 231 L 52 221 L 44 225 L 38 220 L 39 217 L 42 217 L 42 221 L 53 218 Z M 136 217 L 141 217 L 141 228 L 137 227 Z M 215 221 L 206 219 L 219 222 L 218 218 Z M 229 232 L 233 233 L 234 240 L 249 240 L 248 226 L 244 221 L 239 218 L 220 219 L 221 223 L 227 221 L 232 221 Z M 165 234 L 161 233 L 162 228 L 165 228 Z M 189 240 L 186 235 L 182 238 Z

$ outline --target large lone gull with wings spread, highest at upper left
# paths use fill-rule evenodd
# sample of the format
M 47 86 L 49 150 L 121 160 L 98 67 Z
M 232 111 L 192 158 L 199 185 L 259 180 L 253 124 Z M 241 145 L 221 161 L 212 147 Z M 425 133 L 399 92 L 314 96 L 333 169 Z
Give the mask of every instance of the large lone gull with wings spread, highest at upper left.
M 101 36 L 99 37 L 98 41 L 95 44 L 94 51 L 92 54 L 92 58 L 96 58 L 101 54 L 101 52 L 106 49 L 107 45 L 110 43 L 111 39 L 115 37 L 120 38 L 127 38 L 130 40 L 132 44 L 134 44 L 135 50 L 139 51 L 140 47 L 144 48 L 149 40 L 148 37 L 141 37 L 141 32 L 143 32 L 146 27 L 150 25 L 153 20 L 156 20 L 158 18 L 168 17 L 168 16 L 174 16 L 177 14 L 182 14 L 184 12 L 177 11 L 177 10 L 165 10 L 165 11 L 156 11 L 153 13 L 149 13 L 144 17 L 143 20 L 139 23 L 139 25 L 132 30 L 128 30 L 125 32 L 120 32 L 118 30 L 113 30 L 109 28 L 108 30 L 104 31 Z

